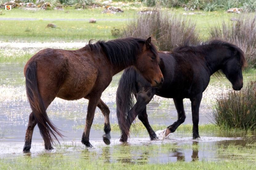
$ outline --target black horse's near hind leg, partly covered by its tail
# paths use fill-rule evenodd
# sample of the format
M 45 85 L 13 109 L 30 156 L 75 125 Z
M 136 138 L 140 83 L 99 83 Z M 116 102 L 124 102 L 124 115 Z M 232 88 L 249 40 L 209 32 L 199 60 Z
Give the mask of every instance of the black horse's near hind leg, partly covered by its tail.
M 126 126 L 128 129 L 130 129 L 130 126 L 132 122 L 135 120 L 136 116 L 138 114 L 141 114 L 141 112 L 146 109 L 146 105 L 150 102 L 150 100 L 155 95 L 155 89 L 152 87 L 143 87 L 141 88 L 143 90 L 139 91 L 136 94 L 137 102 L 133 106 L 133 108 L 128 112 L 128 116 L 126 119 Z M 120 141 L 126 142 L 128 139 L 127 134 L 122 134 Z

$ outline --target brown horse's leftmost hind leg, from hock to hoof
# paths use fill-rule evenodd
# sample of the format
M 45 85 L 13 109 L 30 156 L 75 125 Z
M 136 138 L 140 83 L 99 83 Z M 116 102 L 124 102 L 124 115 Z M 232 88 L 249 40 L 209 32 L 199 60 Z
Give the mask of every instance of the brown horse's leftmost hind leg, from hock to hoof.
M 30 152 L 32 135 L 33 135 L 35 126 L 36 126 L 36 121 L 35 121 L 34 115 L 33 115 L 33 113 L 30 113 L 29 121 L 28 121 L 28 128 L 26 130 L 26 136 L 25 136 L 25 145 L 23 147 L 23 152 L 25 152 L 25 153 Z

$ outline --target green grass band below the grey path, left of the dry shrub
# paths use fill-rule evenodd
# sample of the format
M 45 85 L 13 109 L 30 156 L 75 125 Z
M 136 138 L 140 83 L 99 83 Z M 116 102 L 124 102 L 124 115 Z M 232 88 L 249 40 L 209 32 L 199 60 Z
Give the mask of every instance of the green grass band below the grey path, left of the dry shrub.
M 46 28 L 53 23 L 57 28 Z M 121 26 L 120 21 L 98 21 L 91 24 L 87 21 L 15 21 L 0 22 L 0 37 L 6 41 L 84 41 L 90 39 L 114 39 L 113 27 Z M 15 39 L 11 38 L 15 37 Z

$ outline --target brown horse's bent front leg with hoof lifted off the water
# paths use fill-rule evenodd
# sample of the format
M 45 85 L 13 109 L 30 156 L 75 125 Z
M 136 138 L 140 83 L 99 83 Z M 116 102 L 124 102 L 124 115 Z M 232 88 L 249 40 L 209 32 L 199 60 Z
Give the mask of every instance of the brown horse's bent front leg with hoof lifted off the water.
M 98 108 L 100 108 L 102 114 L 104 115 L 104 132 L 105 134 L 103 135 L 103 141 L 105 142 L 106 145 L 110 144 L 110 122 L 109 122 L 109 114 L 110 110 L 108 106 L 100 99 L 98 102 Z

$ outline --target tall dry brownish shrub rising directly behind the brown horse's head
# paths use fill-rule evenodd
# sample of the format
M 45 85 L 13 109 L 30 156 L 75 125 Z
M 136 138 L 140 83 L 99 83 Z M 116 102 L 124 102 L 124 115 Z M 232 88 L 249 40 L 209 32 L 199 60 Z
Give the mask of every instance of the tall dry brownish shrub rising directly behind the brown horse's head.
M 139 14 L 125 25 L 122 37 L 148 38 L 156 40 L 159 50 L 170 51 L 177 44 L 190 38 L 191 44 L 198 44 L 195 23 L 185 16 L 170 14 L 154 8 Z

